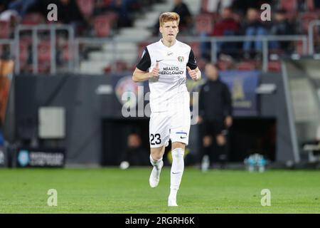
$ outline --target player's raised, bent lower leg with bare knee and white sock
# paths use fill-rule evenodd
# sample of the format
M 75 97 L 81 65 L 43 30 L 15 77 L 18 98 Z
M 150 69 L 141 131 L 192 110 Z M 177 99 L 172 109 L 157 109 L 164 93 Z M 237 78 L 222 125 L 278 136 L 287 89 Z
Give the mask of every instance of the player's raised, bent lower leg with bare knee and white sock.
M 162 157 L 164 156 L 164 148 L 164 146 L 151 148 L 150 162 L 154 167 L 149 178 L 149 184 L 151 187 L 159 185 L 161 169 L 164 166 L 164 162 L 162 160 Z

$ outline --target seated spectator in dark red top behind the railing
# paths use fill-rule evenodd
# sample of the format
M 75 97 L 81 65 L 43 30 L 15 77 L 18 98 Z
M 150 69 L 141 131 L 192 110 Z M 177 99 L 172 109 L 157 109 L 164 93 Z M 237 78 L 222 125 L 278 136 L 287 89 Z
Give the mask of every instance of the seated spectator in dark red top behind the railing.
M 233 10 L 231 8 L 223 9 L 221 13 L 221 20 L 218 21 L 212 34 L 203 33 L 201 36 L 235 36 L 240 32 L 240 24 L 233 17 Z M 232 54 L 237 48 L 237 43 L 218 42 L 218 53 Z M 210 59 L 210 43 L 201 43 L 201 55 L 203 58 Z

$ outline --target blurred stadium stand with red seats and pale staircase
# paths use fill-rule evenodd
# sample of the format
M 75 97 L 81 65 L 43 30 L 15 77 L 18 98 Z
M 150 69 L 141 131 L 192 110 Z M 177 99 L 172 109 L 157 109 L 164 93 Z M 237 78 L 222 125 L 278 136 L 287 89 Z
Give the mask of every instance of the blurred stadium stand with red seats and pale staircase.
M 154 24 L 159 18 L 159 14 L 163 11 L 169 11 L 174 7 L 174 1 L 144 1 L 144 0 L 123 0 L 123 1 L 112 1 L 112 0 L 69 0 L 67 4 L 63 5 L 62 1 L 53 1 L 63 5 L 65 9 L 70 9 L 71 6 L 77 6 L 76 9 L 70 11 L 70 19 L 66 20 L 64 13 L 61 13 L 62 19 L 58 21 L 50 22 L 46 19 L 48 9 L 45 8 L 46 1 L 36 1 L 36 4 L 30 6 L 26 14 L 14 14 L 9 6 L 10 4 L 2 4 L 0 9 L 0 38 L 13 39 L 16 35 L 16 28 L 20 25 L 36 26 L 39 24 L 61 24 L 64 21 L 68 21 L 67 24 L 72 29 L 75 29 L 75 39 L 73 43 L 68 45 L 59 45 L 59 41 L 68 41 L 68 34 L 63 32 L 57 32 L 55 37 L 55 61 L 56 71 L 63 72 L 70 70 L 65 67 L 68 61 L 73 61 L 73 71 L 78 73 L 95 73 L 103 74 L 105 72 L 119 72 L 119 70 L 130 71 L 134 68 L 134 64 L 137 63 L 139 56 L 141 56 L 141 50 L 147 43 L 155 41 L 157 37 L 153 36 L 152 30 Z M 319 4 L 317 1 L 257 1 L 253 4 L 252 1 L 245 1 L 244 4 L 240 4 L 240 1 L 225 1 L 224 4 L 218 4 L 215 6 L 213 0 L 188 0 L 183 1 L 188 6 L 189 11 L 193 16 L 191 23 L 191 29 L 183 31 L 180 35 L 181 41 L 186 41 L 193 47 L 193 51 L 196 53 L 198 60 L 202 61 L 214 61 L 220 62 L 223 65 L 223 59 L 220 59 L 221 54 L 226 54 L 231 58 L 233 68 L 246 70 L 250 68 L 250 64 L 244 63 L 248 61 L 248 57 L 244 56 L 242 50 L 242 42 L 245 38 L 245 33 L 240 29 L 238 33 L 234 33 L 233 36 L 226 35 L 230 38 L 229 44 L 232 45 L 232 51 L 218 50 L 216 47 L 219 38 L 211 34 L 215 33 L 215 24 L 221 20 L 221 11 L 225 7 L 233 9 L 233 19 L 239 21 L 241 25 L 245 23 L 245 12 L 250 7 L 259 7 L 262 3 L 267 2 L 272 4 L 272 12 L 278 9 L 284 10 L 287 15 L 289 23 L 292 23 L 294 28 L 297 28 L 295 34 L 287 37 L 287 41 L 290 43 L 286 46 L 286 50 L 280 48 L 277 49 L 277 55 L 288 56 L 291 54 L 306 54 L 306 36 L 309 35 L 309 24 L 311 21 L 319 19 Z M 61 5 L 61 7 L 62 7 Z M 239 6 L 241 5 L 241 7 Z M 215 9 L 218 7 L 218 9 Z M 237 8 L 238 7 L 238 8 Z M 260 10 L 260 8 L 257 8 Z M 79 11 L 77 13 L 77 10 Z M 127 12 L 124 16 L 122 13 Z M 294 14 L 294 16 L 292 16 Z M 60 16 L 60 14 L 58 15 Z M 272 13 L 273 16 L 273 13 Z M 70 21 L 74 20 L 74 21 Z M 126 21 L 127 20 L 127 21 Z M 129 21 L 129 22 L 128 22 Z M 271 23 L 263 23 L 268 30 L 272 28 Z M 319 41 L 319 29 L 318 26 L 313 28 L 314 36 L 314 51 L 320 51 Z M 270 30 L 271 32 L 271 30 Z M 46 51 L 50 51 L 50 48 L 46 46 L 46 41 L 50 40 L 48 33 L 42 33 L 40 30 L 37 32 L 38 44 L 38 61 L 48 61 L 50 55 Z M 31 48 L 34 37 L 32 38 L 31 31 L 23 32 L 20 36 L 21 51 L 19 58 L 16 56 L 16 51 L 8 53 L 10 58 L 16 58 L 16 61 L 21 60 L 18 72 L 31 72 L 34 69 L 33 49 Z M 201 34 L 208 34 L 206 36 L 206 42 L 209 43 L 207 50 L 208 53 L 203 52 L 203 38 Z M 268 33 L 265 38 L 268 40 L 268 46 L 263 48 L 262 53 L 251 53 L 249 61 L 254 61 L 257 58 L 261 64 L 255 64 L 257 69 L 268 71 L 270 61 L 270 53 L 274 53 L 275 49 L 270 48 L 270 39 L 272 33 Z M 85 38 L 85 39 L 83 39 Z M 231 41 L 235 38 L 235 41 Z M 239 40 L 240 38 L 240 40 Z M 97 41 L 97 39 L 100 39 Z M 277 37 L 273 38 L 273 41 L 277 40 Z M 28 42 L 26 42 L 28 40 Z M 261 39 L 262 41 L 262 39 Z M 47 44 L 50 41 L 47 41 Z M 72 51 L 66 51 L 71 48 Z M 14 50 L 14 48 L 12 48 Z M 26 53 L 27 52 L 27 53 Z M 28 56 L 28 58 L 26 58 Z M 244 58 L 247 57 L 247 58 Z M 38 64 L 38 67 L 41 63 Z M 50 72 L 49 68 L 43 68 L 44 73 Z M 90 68 L 87 66 L 91 66 Z M 121 66 L 120 68 L 117 66 Z M 224 64 L 223 66 L 226 66 Z M 68 69 L 68 70 L 66 70 Z M 277 68 L 272 68 L 275 71 Z M 41 70 L 42 71 L 42 70 Z M 51 71 L 52 72 L 52 71 Z

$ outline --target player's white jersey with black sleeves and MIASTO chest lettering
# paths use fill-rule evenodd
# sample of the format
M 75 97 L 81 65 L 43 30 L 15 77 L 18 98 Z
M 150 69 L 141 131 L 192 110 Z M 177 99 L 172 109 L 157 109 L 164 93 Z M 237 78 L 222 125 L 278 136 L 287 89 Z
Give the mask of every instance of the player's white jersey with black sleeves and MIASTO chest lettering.
M 151 112 L 168 110 L 169 103 L 186 88 L 186 66 L 197 68 L 196 59 L 191 47 L 176 40 L 173 46 L 167 47 L 158 41 L 146 46 L 142 59 L 137 64 L 141 71 L 151 72 L 159 63 L 159 78 L 149 80 Z

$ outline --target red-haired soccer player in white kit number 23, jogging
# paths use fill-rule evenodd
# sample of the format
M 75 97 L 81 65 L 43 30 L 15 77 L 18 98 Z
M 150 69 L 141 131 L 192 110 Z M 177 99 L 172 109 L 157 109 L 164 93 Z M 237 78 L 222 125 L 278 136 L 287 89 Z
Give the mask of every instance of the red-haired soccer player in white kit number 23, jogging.
M 184 150 L 191 125 L 190 96 L 186 88 L 186 70 L 193 81 L 201 79 L 191 47 L 176 40 L 180 16 L 166 12 L 159 17 L 160 41 L 146 46 L 133 73 L 133 81 L 149 81 L 150 162 L 153 165 L 149 184 L 159 184 L 164 149 L 172 142 L 171 185 L 168 206 L 178 206 L 176 195 L 184 169 Z

